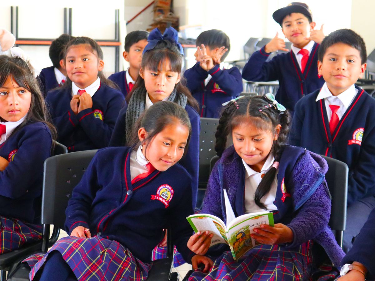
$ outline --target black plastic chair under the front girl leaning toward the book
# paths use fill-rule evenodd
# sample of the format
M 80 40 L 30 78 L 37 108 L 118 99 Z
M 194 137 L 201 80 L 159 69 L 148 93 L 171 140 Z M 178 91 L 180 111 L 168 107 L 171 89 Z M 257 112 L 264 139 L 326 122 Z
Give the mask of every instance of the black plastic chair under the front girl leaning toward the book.
M 60 229 L 64 229 L 65 209 L 74 187 L 80 182 L 87 166 L 97 150 L 78 151 L 48 158 L 44 163 L 44 181 L 42 196 L 43 241 L 41 251 L 46 253 L 58 239 Z M 51 224 L 54 225 L 49 239 Z M 168 280 L 173 265 L 173 245 L 170 245 L 168 232 L 168 254 L 166 259 L 153 262 L 147 280 Z M 39 248 L 40 252 L 40 248 Z M 9 280 L 28 280 L 30 268 L 18 263 L 9 271 Z M 177 272 L 171 274 L 176 278 Z M 163 278 L 163 275 L 166 278 Z M 169 279 L 169 280 L 178 280 Z

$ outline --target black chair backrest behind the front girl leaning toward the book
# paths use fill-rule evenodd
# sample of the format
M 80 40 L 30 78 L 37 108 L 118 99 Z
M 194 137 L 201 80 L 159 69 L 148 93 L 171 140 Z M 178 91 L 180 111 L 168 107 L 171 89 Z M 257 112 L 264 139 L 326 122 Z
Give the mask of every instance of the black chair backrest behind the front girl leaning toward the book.
M 64 229 L 65 209 L 97 150 L 77 151 L 44 161 L 42 223 Z

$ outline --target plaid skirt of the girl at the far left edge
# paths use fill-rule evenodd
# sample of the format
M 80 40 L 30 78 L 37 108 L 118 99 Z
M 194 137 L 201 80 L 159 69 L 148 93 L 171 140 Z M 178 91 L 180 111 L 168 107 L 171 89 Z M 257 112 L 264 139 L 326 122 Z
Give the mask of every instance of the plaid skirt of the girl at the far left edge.
M 42 226 L 0 216 L 0 254 L 42 239 Z

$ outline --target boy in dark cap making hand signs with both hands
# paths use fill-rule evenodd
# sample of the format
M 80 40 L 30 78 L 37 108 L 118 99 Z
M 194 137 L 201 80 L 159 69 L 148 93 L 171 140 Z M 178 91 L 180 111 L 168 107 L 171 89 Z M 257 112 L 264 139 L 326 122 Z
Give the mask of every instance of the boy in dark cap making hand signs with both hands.
M 320 30 L 314 30 L 309 6 L 300 2 L 276 10 L 272 17 L 293 44 L 292 50 L 267 62 L 271 52 L 289 51 L 276 33 L 267 45 L 252 54 L 242 70 L 242 77 L 248 81 L 279 80 L 276 99 L 293 112 L 301 97 L 321 88 L 324 83 L 317 69 L 319 44 L 324 38 L 323 25 Z

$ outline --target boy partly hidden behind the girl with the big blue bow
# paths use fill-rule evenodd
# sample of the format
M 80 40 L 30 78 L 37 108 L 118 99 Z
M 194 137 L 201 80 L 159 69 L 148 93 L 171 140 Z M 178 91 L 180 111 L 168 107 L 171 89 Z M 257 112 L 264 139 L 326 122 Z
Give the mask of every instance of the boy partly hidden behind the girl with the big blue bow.
M 132 31 L 125 37 L 124 59 L 129 63 L 127 70 L 112 74 L 108 79 L 115 82 L 121 93 L 126 97 L 138 78 L 142 62 L 142 52 L 147 45 L 148 32 L 144 30 Z

